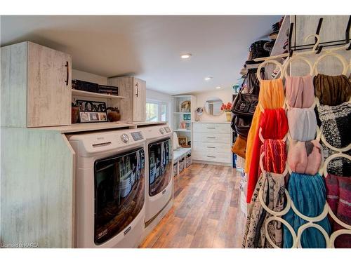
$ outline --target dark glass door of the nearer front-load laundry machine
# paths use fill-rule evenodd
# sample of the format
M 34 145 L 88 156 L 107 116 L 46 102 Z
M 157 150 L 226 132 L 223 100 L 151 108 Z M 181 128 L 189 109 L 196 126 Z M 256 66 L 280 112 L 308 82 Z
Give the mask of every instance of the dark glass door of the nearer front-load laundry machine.
M 95 161 L 94 241 L 119 234 L 142 210 L 145 199 L 143 148 Z

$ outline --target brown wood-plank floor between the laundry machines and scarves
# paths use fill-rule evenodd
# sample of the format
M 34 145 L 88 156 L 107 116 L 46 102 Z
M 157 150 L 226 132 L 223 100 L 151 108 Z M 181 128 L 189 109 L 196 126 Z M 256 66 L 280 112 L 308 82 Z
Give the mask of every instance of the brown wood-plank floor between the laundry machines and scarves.
M 193 163 L 174 177 L 174 205 L 140 248 L 241 248 L 239 174 Z

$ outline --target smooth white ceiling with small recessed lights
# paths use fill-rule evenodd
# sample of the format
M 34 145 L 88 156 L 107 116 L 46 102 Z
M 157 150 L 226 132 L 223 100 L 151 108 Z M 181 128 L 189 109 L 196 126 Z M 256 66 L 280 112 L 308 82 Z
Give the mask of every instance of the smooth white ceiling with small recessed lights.
M 236 83 L 250 44 L 280 17 L 1 16 L 1 46 L 33 41 L 72 55 L 74 69 L 130 74 L 152 90 L 189 93 Z M 180 53 L 192 58 L 182 61 Z

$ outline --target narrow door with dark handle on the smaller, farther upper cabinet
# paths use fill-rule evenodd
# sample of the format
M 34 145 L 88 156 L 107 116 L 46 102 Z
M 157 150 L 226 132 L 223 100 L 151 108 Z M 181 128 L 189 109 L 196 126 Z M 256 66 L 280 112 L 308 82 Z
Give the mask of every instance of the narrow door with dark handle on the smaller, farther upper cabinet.
M 146 82 L 140 79 L 133 81 L 133 121 L 146 119 Z

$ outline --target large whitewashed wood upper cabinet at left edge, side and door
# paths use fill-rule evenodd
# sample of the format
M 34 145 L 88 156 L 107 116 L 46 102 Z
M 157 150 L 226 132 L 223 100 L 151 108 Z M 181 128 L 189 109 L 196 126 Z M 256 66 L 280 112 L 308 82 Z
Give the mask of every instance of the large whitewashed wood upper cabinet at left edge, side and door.
M 37 43 L 1 48 L 1 126 L 71 124 L 71 56 Z

